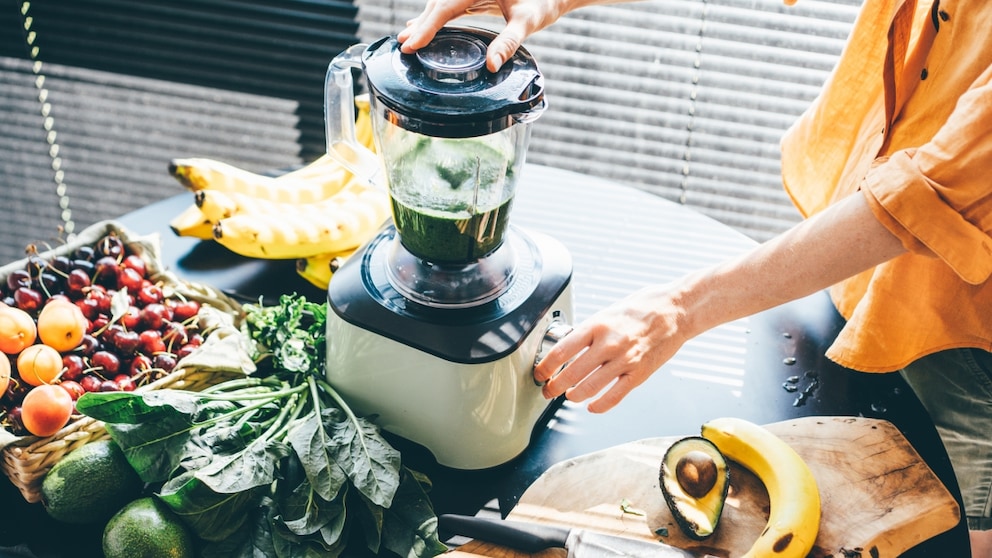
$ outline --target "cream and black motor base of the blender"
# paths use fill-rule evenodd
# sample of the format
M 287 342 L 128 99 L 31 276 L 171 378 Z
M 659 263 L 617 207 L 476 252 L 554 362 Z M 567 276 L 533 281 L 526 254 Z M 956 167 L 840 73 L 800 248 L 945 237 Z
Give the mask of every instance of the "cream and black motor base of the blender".
M 375 297 L 341 283 L 367 275 L 363 266 L 368 259 L 349 259 L 328 291 L 330 384 L 358 414 L 375 415 L 380 428 L 423 446 L 441 465 L 486 469 L 522 453 L 552 404 L 534 382 L 534 359 L 545 332 L 552 325 L 570 323 L 573 312 L 571 259 L 557 241 L 539 236 L 535 245 L 542 253 L 538 269 L 543 275 L 538 282 L 552 286 L 535 289 L 531 298 L 539 295 L 543 300 L 531 302 L 539 304 L 518 306 L 516 314 L 527 315 L 510 312 L 502 319 L 479 318 L 487 314 L 472 310 L 436 309 L 416 317 L 376 304 L 378 312 L 388 315 L 362 322 L 355 308 Z M 546 292 L 553 295 L 542 294 Z M 362 304 L 349 297 L 362 298 Z M 488 304 L 498 306 L 499 301 Z M 534 307 L 540 309 L 536 315 Z M 375 327 L 386 321 L 391 332 Z M 454 351 L 425 349 L 432 338 L 437 339 L 433 345 L 443 348 L 458 337 L 456 332 L 463 335 L 466 330 L 480 333 L 472 336 L 476 350 L 462 348 L 464 358 L 450 354 Z M 394 338 L 403 331 L 410 332 L 407 339 Z M 482 346 L 500 350 L 481 351 L 480 356 Z

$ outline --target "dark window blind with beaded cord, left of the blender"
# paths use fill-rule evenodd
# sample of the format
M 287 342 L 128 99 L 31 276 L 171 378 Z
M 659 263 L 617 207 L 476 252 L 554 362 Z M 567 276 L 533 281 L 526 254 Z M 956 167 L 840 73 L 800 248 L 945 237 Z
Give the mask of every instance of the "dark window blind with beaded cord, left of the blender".
M 0 3 L 0 261 L 182 192 L 174 157 L 256 171 L 324 151 L 347 0 Z M 57 174 L 61 171 L 61 174 Z

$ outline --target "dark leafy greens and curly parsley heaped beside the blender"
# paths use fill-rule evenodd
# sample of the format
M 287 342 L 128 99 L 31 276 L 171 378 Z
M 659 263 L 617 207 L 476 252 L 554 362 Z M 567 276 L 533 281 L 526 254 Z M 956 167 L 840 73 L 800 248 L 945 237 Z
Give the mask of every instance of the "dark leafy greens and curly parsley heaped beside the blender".
M 161 483 L 204 556 L 444 552 L 429 480 L 324 379 L 326 307 L 284 295 L 244 310 L 252 376 L 199 392 L 87 393 L 78 410 Z

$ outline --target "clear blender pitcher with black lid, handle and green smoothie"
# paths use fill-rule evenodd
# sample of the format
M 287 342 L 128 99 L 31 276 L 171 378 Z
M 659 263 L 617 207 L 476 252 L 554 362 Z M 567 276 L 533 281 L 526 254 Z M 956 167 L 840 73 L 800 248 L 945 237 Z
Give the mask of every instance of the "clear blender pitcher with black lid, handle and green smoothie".
M 428 268 L 446 269 L 445 280 L 466 267 L 472 269 L 461 275 L 491 275 L 475 266 L 500 248 L 507 232 L 529 124 L 546 105 L 543 77 L 526 50 L 496 73 L 486 69 L 494 37 L 481 29 L 444 28 L 415 54 L 401 53 L 399 43 L 385 37 L 352 46 L 328 68 L 328 153 L 387 188 L 401 244 L 393 272 L 412 296 L 436 290 L 430 284 L 436 270 L 425 279 Z M 378 155 L 355 141 L 356 68 L 368 84 Z M 414 259 L 419 262 L 411 264 Z M 454 296 L 476 295 L 459 289 Z

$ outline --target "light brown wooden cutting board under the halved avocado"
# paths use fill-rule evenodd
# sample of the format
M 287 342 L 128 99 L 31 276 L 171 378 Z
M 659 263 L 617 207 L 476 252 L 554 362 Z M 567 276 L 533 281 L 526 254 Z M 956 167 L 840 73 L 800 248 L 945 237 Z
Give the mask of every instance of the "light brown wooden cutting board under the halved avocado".
M 766 427 L 789 443 L 816 477 L 821 519 L 810 556 L 898 556 L 958 524 L 957 502 L 890 422 L 808 417 Z M 559 463 L 527 489 L 509 519 L 662 541 L 717 557 L 743 555 L 768 518 L 764 485 L 731 463 L 730 494 L 716 533 L 704 542 L 688 539 L 658 485 L 661 458 L 677 439 L 632 442 Z M 527 556 L 482 541 L 447 555 Z M 554 549 L 536 556 L 564 555 Z

